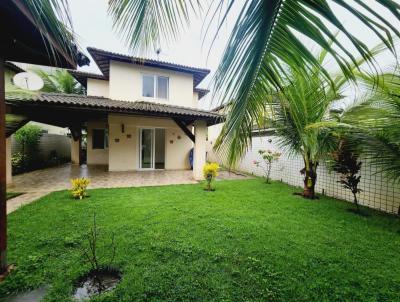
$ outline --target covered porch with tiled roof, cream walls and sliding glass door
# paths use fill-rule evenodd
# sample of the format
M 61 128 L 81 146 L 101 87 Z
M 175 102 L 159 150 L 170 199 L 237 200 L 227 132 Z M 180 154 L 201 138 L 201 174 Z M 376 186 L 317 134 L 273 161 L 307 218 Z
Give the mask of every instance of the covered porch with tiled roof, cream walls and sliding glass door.
M 84 95 L 10 96 L 6 103 L 7 113 L 19 118 L 14 127 L 7 129 L 8 136 L 30 120 L 68 127 L 72 136 L 73 164 L 83 163 L 82 130 L 85 130 L 87 163 L 100 165 L 94 169 L 105 172 L 146 170 L 161 173 L 161 176 L 167 170 L 188 170 L 185 174 L 190 174 L 192 180 L 203 178 L 208 126 L 222 122 L 221 115 L 194 108 Z M 156 139 L 158 130 L 161 130 L 161 140 Z M 152 146 L 149 148 L 149 145 Z M 157 146 L 161 146 L 158 149 L 163 154 L 161 169 L 157 166 Z M 190 157 L 193 171 L 189 170 Z M 146 174 L 152 173 L 143 173 L 143 176 Z M 17 178 L 12 182 L 15 181 Z

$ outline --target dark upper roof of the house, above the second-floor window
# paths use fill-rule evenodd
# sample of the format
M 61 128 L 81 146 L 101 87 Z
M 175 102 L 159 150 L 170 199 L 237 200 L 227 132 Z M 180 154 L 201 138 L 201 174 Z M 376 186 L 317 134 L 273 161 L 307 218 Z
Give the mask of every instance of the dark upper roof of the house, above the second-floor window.
M 210 73 L 209 69 L 191 67 L 191 66 L 180 65 L 176 63 L 165 62 L 154 59 L 133 57 L 130 55 L 115 53 L 94 47 L 88 47 L 87 50 L 89 51 L 90 55 L 95 60 L 97 66 L 100 68 L 101 72 L 107 79 L 110 76 L 111 60 L 135 64 L 135 65 L 142 65 L 147 67 L 155 67 L 155 68 L 162 68 L 173 71 L 190 73 L 193 75 L 193 87 L 197 87 L 197 85 Z

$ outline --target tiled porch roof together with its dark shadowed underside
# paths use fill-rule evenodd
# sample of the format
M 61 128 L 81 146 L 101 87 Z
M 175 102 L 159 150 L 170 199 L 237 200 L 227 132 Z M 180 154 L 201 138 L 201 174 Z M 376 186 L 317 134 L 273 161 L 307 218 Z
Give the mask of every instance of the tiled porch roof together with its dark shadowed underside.
M 185 125 L 190 125 L 196 120 L 204 120 L 208 126 L 223 121 L 222 115 L 204 110 L 143 101 L 116 101 L 86 95 L 55 93 L 8 95 L 6 105 L 8 114 L 70 128 L 83 125 L 88 120 L 107 118 L 109 113 L 171 118 Z

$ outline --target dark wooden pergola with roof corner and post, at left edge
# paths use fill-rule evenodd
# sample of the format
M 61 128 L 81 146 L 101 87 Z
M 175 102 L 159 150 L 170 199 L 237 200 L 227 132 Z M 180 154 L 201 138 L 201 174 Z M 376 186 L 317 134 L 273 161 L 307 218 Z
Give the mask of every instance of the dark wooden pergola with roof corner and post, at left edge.
M 42 31 L 40 28 L 43 27 L 38 25 L 25 3 L 23 0 L 0 1 L 0 280 L 9 271 L 4 63 L 7 60 L 72 69 L 89 63 L 72 41 L 67 50 L 56 42 L 57 39 Z

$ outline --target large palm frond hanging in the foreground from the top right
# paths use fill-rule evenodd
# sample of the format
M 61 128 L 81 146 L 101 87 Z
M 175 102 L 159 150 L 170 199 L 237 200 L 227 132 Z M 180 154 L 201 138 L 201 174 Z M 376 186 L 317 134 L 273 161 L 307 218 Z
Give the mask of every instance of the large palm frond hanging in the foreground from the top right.
M 333 2 L 352 13 L 382 40 L 386 48 L 395 53 L 394 38 L 390 31 L 400 36 L 399 31 L 388 24 L 383 16 L 375 16 L 372 20 L 368 17 L 368 11 L 357 10 L 354 4 L 350 5 L 347 1 L 340 0 Z M 398 17 L 399 4 L 386 0 L 380 1 L 380 5 L 389 7 L 393 15 Z M 330 30 L 321 17 L 328 21 L 335 31 Z M 336 37 L 338 31 L 350 40 L 361 59 L 356 59 L 342 45 Z M 226 131 L 226 136 L 234 135 L 233 127 L 251 125 L 244 117 L 254 111 L 251 107 L 254 102 L 249 102 L 252 95 L 258 95 L 258 102 L 265 102 L 268 94 L 282 90 L 287 85 L 290 80 L 287 78 L 287 66 L 297 68 L 303 74 L 319 70 L 327 81 L 334 84 L 335 81 L 321 66 L 318 57 L 311 53 L 295 32 L 311 39 L 329 53 L 339 65 L 346 80 L 355 80 L 354 66 L 358 68 L 364 62 L 376 66 L 374 52 L 344 27 L 328 1 L 247 1 L 214 79 L 216 97 L 223 102 L 233 100 L 232 112 L 227 119 L 228 123 L 229 119 L 233 119 L 232 126 L 229 127 L 232 130 Z M 243 111 L 248 111 L 248 114 Z M 244 148 L 242 152 L 238 152 L 234 146 L 231 148 L 237 156 L 243 154 L 250 144 L 249 136 L 228 140 L 241 140 L 240 146 Z M 224 138 L 220 141 L 224 141 Z

